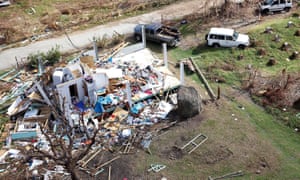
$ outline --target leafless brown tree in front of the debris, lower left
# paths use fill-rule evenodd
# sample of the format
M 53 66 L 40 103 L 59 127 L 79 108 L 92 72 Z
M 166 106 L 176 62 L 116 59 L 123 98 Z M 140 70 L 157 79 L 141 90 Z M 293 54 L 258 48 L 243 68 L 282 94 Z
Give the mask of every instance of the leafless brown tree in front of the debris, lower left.
M 74 130 L 75 127 L 71 127 L 67 118 L 63 113 L 59 113 L 55 108 L 52 108 L 54 116 L 60 119 L 62 123 L 62 130 L 60 134 L 54 134 L 47 130 L 47 128 L 41 127 L 41 132 L 45 135 L 47 141 L 50 144 L 50 152 L 37 148 L 30 157 L 47 157 L 52 159 L 56 164 L 63 165 L 66 170 L 71 173 L 71 177 L 74 180 L 80 179 L 79 171 L 76 168 L 77 162 L 81 160 L 91 149 L 95 143 L 98 129 L 94 129 L 92 132 L 87 129 L 83 122 L 83 115 L 80 116 L 81 127 L 83 128 L 82 134 L 85 135 L 88 143 L 86 146 L 76 150 L 73 153 L 74 143 Z M 66 141 L 67 138 L 67 141 Z

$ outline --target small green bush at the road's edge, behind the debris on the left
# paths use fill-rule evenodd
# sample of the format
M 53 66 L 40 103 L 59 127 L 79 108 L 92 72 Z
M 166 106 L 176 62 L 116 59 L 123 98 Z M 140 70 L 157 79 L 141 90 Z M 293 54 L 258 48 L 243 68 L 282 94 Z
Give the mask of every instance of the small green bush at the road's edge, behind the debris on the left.
M 28 66 L 31 68 L 37 68 L 39 59 L 43 62 L 46 66 L 51 66 L 57 63 L 60 60 L 61 53 L 59 51 L 59 46 L 55 46 L 51 48 L 48 52 L 37 52 L 35 54 L 31 53 L 27 57 L 28 59 Z

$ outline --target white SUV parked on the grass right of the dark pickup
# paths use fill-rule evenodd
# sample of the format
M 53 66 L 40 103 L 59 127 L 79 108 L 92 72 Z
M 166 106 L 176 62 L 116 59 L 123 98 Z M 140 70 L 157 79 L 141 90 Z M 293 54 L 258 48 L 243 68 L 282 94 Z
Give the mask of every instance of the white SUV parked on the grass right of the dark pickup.
M 226 28 L 211 28 L 206 35 L 206 41 L 208 46 L 213 47 L 239 47 L 243 49 L 250 45 L 248 35 Z

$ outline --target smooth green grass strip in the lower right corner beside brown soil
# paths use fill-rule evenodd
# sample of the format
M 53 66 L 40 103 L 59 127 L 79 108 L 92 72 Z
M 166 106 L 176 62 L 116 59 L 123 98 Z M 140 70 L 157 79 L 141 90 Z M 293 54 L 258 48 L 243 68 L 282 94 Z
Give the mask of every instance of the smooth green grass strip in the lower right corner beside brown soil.
M 265 139 L 276 147 L 280 154 L 280 170 L 265 178 L 299 179 L 300 178 L 300 138 L 299 134 L 275 120 L 264 109 L 253 104 L 245 104 L 245 115 Z M 262 178 L 263 179 L 263 178 Z

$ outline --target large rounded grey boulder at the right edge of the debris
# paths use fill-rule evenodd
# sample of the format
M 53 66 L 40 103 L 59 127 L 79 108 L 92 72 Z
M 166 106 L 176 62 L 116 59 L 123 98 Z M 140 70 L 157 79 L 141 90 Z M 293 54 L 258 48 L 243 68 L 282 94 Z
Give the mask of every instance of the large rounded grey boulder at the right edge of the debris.
M 177 93 L 177 114 L 181 118 L 191 118 L 202 110 L 201 99 L 194 87 L 181 86 Z

